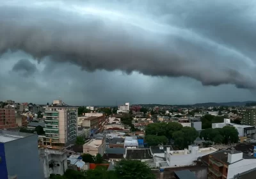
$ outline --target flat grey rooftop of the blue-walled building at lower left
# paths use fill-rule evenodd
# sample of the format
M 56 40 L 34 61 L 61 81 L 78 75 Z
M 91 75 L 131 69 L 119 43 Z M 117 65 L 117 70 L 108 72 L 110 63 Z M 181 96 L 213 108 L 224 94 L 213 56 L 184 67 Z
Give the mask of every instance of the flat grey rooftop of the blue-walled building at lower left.
M 10 141 L 15 141 L 28 136 L 33 136 L 35 134 L 27 134 L 23 132 L 14 132 L 9 130 L 0 130 L 0 143 L 8 143 Z

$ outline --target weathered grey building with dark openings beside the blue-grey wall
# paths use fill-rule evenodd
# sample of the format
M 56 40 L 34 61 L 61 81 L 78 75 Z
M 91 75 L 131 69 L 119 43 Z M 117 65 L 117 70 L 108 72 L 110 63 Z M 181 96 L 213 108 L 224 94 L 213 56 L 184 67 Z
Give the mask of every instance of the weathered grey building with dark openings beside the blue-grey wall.
M 44 169 L 44 178 L 49 178 L 51 174 L 63 175 L 68 168 L 65 152 L 40 148 L 39 157 L 42 169 Z

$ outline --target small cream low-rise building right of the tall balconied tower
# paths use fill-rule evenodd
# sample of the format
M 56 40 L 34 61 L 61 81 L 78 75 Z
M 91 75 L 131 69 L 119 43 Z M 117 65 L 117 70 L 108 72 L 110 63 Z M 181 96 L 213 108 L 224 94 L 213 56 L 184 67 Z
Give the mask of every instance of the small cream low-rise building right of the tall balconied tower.
M 83 153 L 89 153 L 90 155 L 104 154 L 106 149 L 106 139 L 104 137 L 98 137 L 91 139 L 87 143 L 83 144 Z

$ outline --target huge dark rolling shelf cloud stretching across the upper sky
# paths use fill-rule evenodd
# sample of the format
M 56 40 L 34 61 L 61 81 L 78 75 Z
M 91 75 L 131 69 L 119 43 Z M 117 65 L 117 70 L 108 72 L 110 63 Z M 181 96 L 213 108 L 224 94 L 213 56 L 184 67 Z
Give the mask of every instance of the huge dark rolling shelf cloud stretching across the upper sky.
M 255 1 L 5 1 L 0 53 L 255 89 Z

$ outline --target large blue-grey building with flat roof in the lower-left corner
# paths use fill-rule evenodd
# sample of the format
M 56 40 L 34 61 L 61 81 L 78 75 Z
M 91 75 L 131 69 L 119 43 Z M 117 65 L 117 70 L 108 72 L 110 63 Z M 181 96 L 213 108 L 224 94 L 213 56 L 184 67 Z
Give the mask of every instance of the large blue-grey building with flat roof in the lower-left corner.
M 36 134 L 0 130 L 0 178 L 42 179 Z

